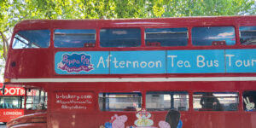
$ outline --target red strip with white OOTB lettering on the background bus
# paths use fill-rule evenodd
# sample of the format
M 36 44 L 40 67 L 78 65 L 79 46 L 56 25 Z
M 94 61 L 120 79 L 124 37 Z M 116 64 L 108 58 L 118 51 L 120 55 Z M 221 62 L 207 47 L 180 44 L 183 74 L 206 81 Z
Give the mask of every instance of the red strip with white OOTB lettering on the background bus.
M 0 88 L 2 88 L 2 87 L 3 87 L 3 85 L 0 84 Z M 5 86 L 4 96 L 24 96 L 24 95 L 25 95 L 24 88 L 10 87 L 8 85 Z M 0 96 L 3 96 L 2 91 L 0 91 Z

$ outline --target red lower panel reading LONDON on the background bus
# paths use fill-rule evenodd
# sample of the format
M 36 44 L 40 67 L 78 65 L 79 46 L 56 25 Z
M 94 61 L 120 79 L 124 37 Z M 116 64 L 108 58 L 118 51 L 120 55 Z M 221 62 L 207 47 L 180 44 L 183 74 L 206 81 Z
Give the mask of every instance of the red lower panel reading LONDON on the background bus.
M 21 115 L 24 115 L 24 109 L 0 109 L 0 122 L 8 122 Z

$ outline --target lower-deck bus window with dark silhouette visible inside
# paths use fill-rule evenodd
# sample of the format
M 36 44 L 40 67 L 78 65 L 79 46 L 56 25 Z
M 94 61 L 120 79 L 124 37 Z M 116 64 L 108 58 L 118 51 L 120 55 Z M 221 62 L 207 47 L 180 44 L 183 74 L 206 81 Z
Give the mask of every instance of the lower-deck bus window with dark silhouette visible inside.
M 236 92 L 195 92 L 193 95 L 195 111 L 237 111 Z

